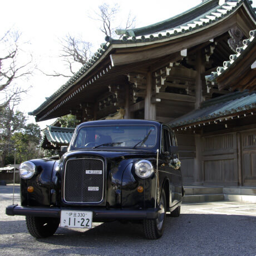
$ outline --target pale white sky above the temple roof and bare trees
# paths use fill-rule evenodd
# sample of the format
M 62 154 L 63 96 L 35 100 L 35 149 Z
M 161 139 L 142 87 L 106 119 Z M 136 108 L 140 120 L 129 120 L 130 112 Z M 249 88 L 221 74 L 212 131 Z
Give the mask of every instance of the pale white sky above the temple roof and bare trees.
M 104 2 L 119 4 L 117 26 L 122 26 L 130 11 L 136 17 L 135 27 L 142 27 L 184 12 L 201 3 L 201 0 L 2 0 L 0 35 L 10 28 L 18 30 L 22 33 L 22 40 L 29 42 L 24 50 L 32 53 L 33 62 L 40 70 L 46 73 L 52 73 L 53 70 L 65 72 L 63 62 L 58 57 L 61 38 L 68 34 L 81 37 L 92 43 L 93 51 L 105 42 L 105 35 L 99 29 L 101 23 L 92 19 Z M 256 0 L 253 1 L 253 6 L 256 7 Z M 46 97 L 51 96 L 67 80 L 63 77 L 48 77 L 39 70 L 34 70 L 28 81 L 21 82 L 23 86 L 31 86 L 31 89 L 23 95 L 18 109 L 27 115 L 27 112 L 37 109 Z M 28 121 L 35 122 L 35 118 L 30 116 Z M 53 121 L 37 124 L 43 129 Z

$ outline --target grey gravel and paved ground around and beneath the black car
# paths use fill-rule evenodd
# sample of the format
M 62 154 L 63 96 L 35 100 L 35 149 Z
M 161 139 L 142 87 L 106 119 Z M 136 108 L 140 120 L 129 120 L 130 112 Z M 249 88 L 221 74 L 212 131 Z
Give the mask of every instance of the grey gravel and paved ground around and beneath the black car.
M 90 230 L 58 228 L 35 239 L 24 216 L 7 216 L 12 186 L 0 186 L 0 255 L 256 255 L 256 205 L 219 201 L 181 206 L 179 218 L 166 219 L 165 233 L 146 240 L 142 225 L 93 223 Z M 19 187 L 15 187 L 19 203 Z

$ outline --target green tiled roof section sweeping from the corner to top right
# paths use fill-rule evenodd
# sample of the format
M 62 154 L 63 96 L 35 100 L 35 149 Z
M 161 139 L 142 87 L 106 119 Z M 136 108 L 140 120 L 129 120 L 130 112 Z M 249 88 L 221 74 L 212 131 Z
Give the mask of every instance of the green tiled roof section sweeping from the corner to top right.
M 251 6 L 252 1 L 228 0 L 223 4 L 219 4 L 220 2 L 221 1 L 217 0 L 208 0 L 189 9 L 189 11 L 166 19 L 163 22 L 137 29 L 117 29 L 116 32 L 118 35 L 125 35 L 122 37 L 122 41 L 126 43 L 163 40 L 164 38 L 183 35 L 218 22 L 232 14 L 243 3 L 247 5 L 250 14 L 252 14 L 252 17 L 256 20 L 255 11 Z M 109 37 L 107 37 L 106 40 L 111 43 L 120 43 L 120 40 L 112 40 L 112 38 Z

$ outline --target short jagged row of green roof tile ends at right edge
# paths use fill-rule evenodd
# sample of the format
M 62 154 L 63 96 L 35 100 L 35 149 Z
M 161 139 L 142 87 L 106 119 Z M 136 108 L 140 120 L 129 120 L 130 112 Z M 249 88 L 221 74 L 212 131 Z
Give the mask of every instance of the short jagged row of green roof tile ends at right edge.
M 229 56 L 229 61 L 223 62 L 223 67 L 218 67 L 216 72 L 211 72 L 211 75 L 205 76 L 206 81 L 215 82 L 216 79 L 223 75 L 229 68 L 246 55 L 247 51 L 256 43 L 256 29 L 250 31 L 250 38 L 243 41 L 243 46 L 237 48 L 237 53 Z

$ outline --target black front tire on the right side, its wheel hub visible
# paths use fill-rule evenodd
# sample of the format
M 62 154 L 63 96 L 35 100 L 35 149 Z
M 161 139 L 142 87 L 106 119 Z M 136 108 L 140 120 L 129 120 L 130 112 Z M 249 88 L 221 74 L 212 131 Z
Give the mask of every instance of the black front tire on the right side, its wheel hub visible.
M 157 219 L 143 220 L 143 230 L 144 230 L 145 237 L 147 239 L 160 238 L 164 233 L 165 218 L 166 218 L 166 198 L 165 198 L 164 190 L 161 194 L 159 207 L 161 208 L 162 211 L 161 213 L 159 213 L 159 216 Z

